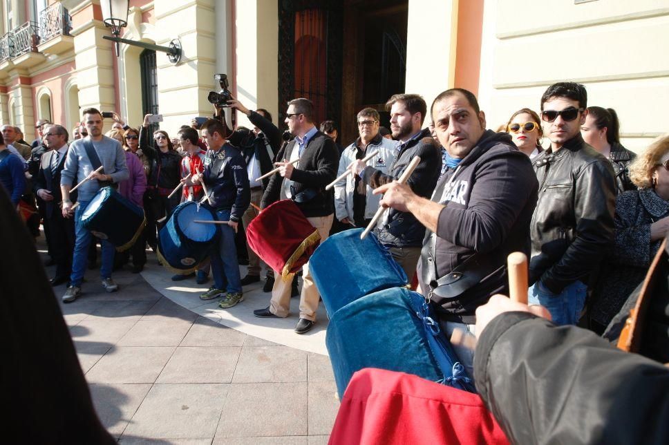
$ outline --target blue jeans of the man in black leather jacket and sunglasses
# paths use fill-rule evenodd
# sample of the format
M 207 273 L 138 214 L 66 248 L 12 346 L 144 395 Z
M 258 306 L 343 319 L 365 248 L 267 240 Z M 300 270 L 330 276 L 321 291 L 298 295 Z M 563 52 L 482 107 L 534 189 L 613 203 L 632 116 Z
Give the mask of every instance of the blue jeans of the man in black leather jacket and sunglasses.
M 587 285 L 574 281 L 559 294 L 554 294 L 537 281 L 529 287 L 527 294 L 528 303 L 546 307 L 556 325 L 575 325 L 585 305 Z

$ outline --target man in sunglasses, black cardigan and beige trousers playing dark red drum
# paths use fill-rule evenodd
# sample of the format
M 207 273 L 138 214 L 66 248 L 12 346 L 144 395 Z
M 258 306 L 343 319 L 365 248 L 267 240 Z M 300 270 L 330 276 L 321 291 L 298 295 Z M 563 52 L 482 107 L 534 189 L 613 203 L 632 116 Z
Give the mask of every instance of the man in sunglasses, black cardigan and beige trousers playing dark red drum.
M 326 191 L 325 188 L 336 178 L 339 151 L 331 138 L 318 131 L 314 121 L 314 104 L 310 100 L 301 97 L 288 102 L 285 123 L 295 138 L 276 155 L 276 160 L 282 161 L 276 162 L 281 169 L 270 178 L 261 209 L 280 199 L 294 200 L 309 223 L 318 229 L 322 243 L 330 234 L 334 213 L 332 191 Z M 296 165 L 290 163 L 298 159 Z M 297 334 L 308 332 L 316 323 L 320 299 L 309 272 L 309 263 L 303 266 L 303 273 L 300 319 L 295 326 Z M 290 280 L 275 280 L 270 306 L 254 310 L 253 314 L 262 318 L 288 316 L 294 279 L 294 275 L 291 275 Z

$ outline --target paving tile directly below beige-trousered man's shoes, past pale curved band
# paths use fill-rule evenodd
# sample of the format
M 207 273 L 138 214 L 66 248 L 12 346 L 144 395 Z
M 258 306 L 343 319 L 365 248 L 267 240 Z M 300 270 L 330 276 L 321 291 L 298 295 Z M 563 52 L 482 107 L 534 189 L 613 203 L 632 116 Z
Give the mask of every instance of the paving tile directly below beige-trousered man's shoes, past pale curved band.
M 307 353 L 288 346 L 245 346 L 233 383 L 307 381 Z

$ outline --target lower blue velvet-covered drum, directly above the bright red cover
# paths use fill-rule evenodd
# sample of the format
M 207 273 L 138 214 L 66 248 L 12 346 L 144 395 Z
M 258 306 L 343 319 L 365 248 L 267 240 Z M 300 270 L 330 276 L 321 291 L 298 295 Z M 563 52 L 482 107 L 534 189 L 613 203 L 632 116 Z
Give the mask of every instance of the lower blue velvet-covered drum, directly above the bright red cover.
M 363 296 L 334 312 L 326 346 L 340 397 L 363 368 L 407 372 L 475 391 L 424 296 L 405 287 Z

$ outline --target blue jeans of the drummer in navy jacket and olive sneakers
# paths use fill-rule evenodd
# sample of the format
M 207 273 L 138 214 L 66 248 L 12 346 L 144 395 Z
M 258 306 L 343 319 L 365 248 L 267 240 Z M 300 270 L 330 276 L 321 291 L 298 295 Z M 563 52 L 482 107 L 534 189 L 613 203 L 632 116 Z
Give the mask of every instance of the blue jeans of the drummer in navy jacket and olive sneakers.
M 230 211 L 217 211 L 218 219 L 230 219 Z M 211 246 L 211 274 L 214 276 L 216 289 L 227 292 L 242 292 L 242 281 L 237 262 L 237 247 L 234 243 L 234 230 L 229 225 L 220 225 L 218 244 Z

